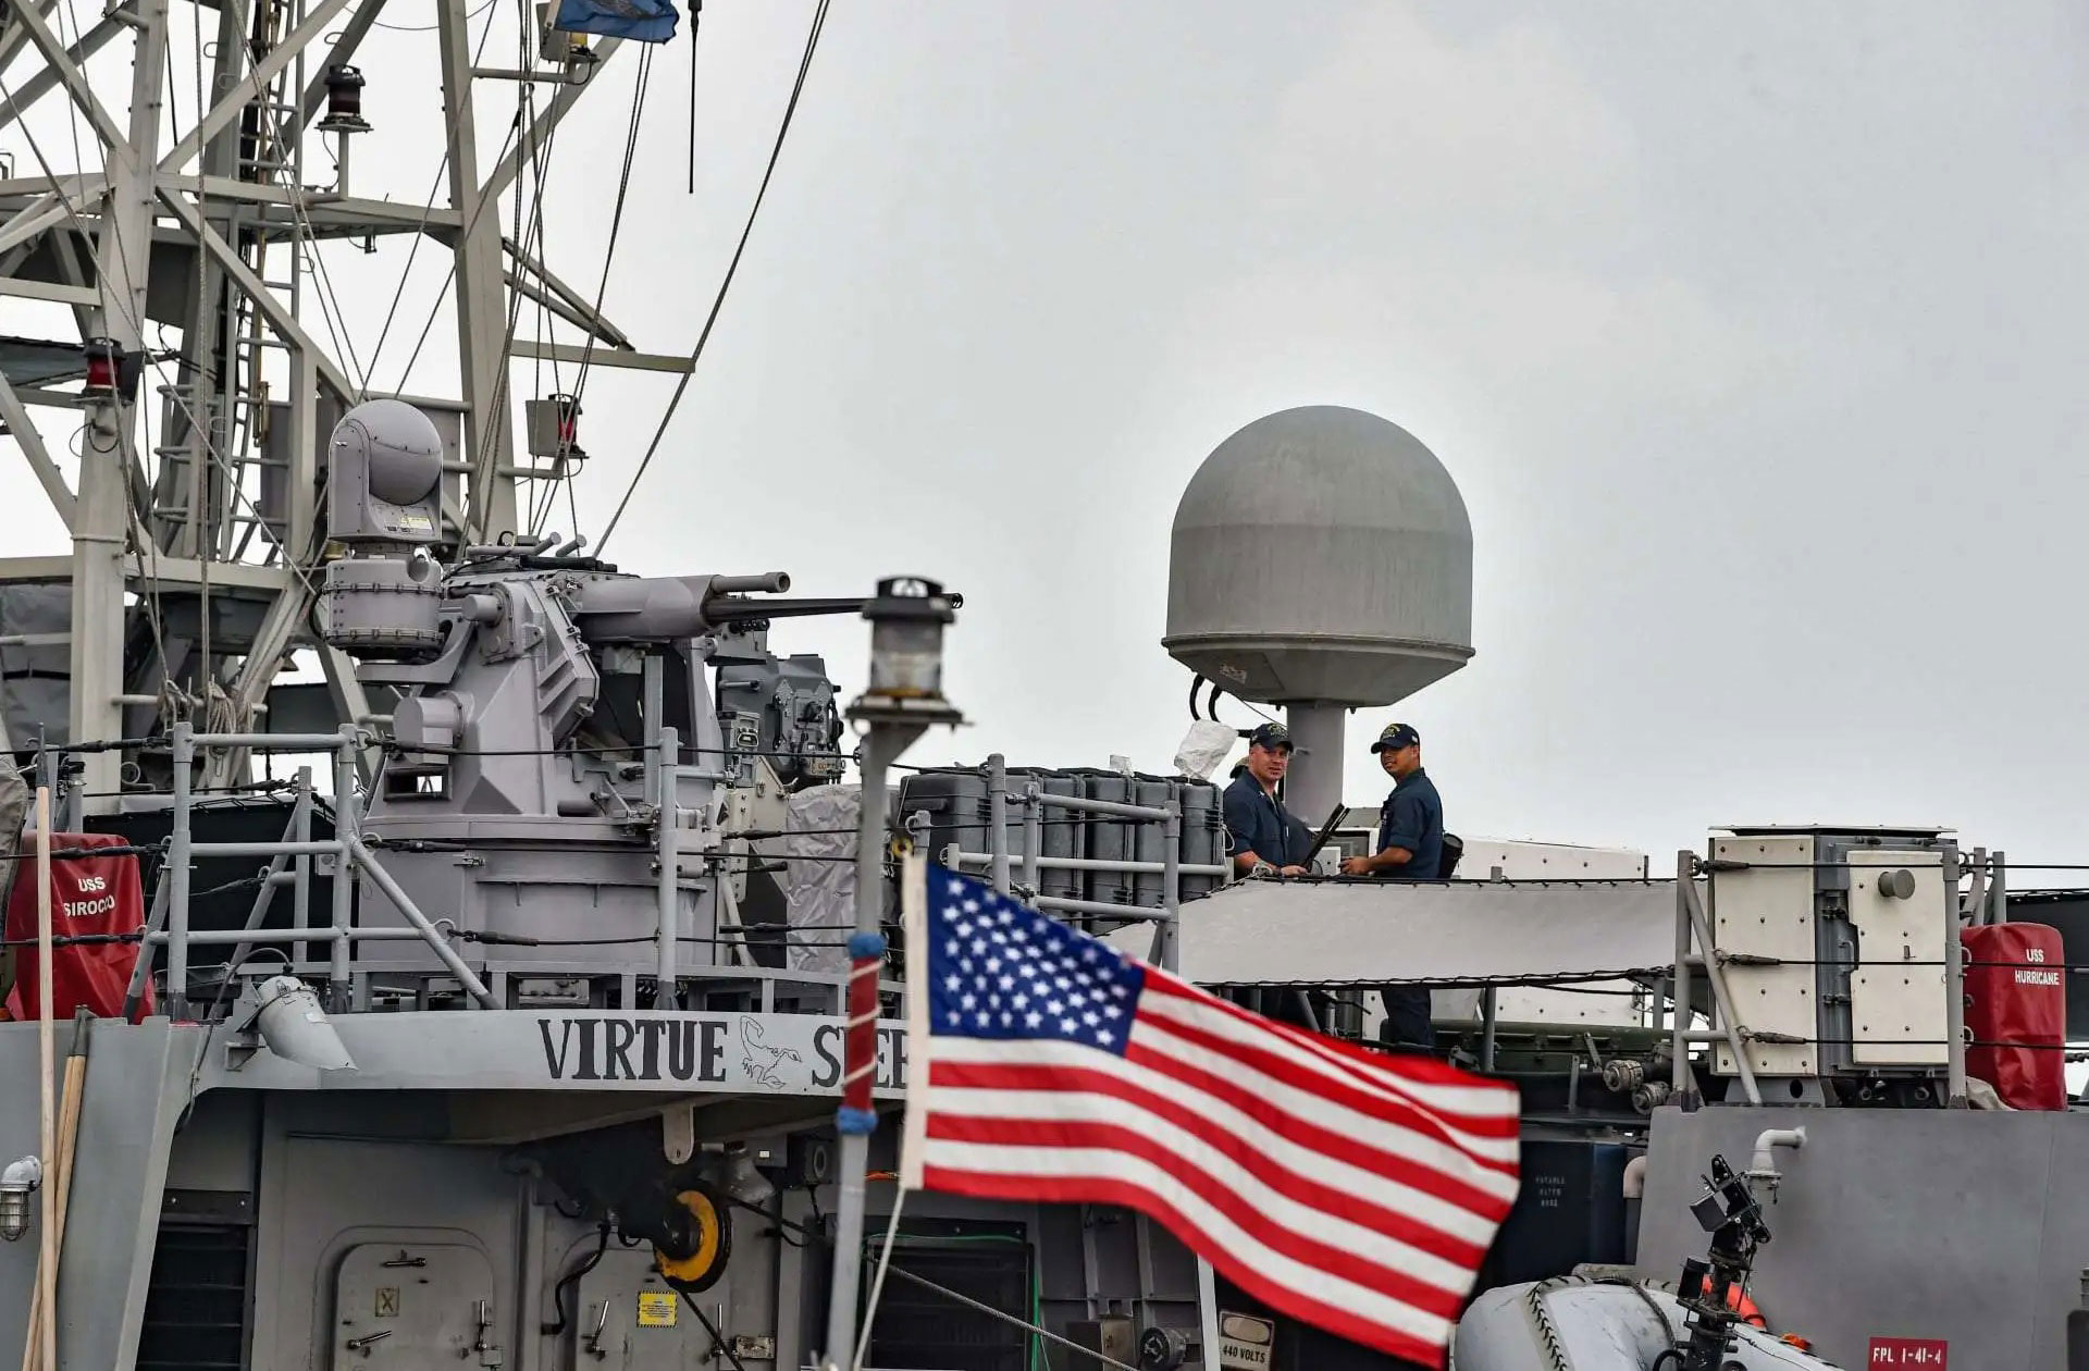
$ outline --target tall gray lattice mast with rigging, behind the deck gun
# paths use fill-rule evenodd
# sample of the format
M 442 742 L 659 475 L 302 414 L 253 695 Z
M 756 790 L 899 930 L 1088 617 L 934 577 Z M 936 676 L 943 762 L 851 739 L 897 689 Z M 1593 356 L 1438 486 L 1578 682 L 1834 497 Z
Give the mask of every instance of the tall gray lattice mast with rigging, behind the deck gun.
M 353 61 L 384 0 L 123 0 L 86 31 L 71 25 L 67 42 L 71 6 L 15 0 L 0 23 L 0 148 L 15 150 L 15 173 L 0 180 L 0 295 L 67 305 L 79 334 L 10 341 L 0 364 L 0 422 L 71 535 L 69 558 L 0 558 L 0 596 L 71 591 L 71 742 L 150 736 L 175 717 L 251 729 L 299 648 L 320 654 L 334 721 L 368 717 L 347 660 L 311 633 L 326 435 L 345 408 L 382 393 L 359 370 L 338 305 L 328 307 L 326 261 L 401 234 L 451 255 L 460 393 L 405 399 L 453 431 L 449 537 L 518 533 L 518 485 L 562 481 L 579 454 L 570 414 L 560 422 L 545 401 L 551 420 L 533 414 L 543 441 L 516 462 L 510 362 L 668 364 L 631 351 L 531 253 L 529 234 L 501 234 L 503 196 L 522 192 L 618 40 L 587 48 L 524 0 L 518 65 L 474 67 L 466 0 L 432 0 L 435 23 L 414 27 L 439 48 L 447 171 L 422 203 L 426 186 L 382 186 L 368 161 L 351 180 L 351 148 L 368 130 Z M 186 125 L 171 113 L 184 94 L 173 23 L 207 40 L 188 52 L 201 71 L 186 71 L 198 96 Z M 109 104 L 125 48 L 127 107 Z M 485 171 L 478 82 L 518 92 L 516 132 Z M 73 140 L 38 138 L 25 123 L 56 109 Z M 330 171 L 320 153 L 332 153 Z M 579 330 L 585 347 L 518 341 L 522 301 Z M 58 464 L 69 445 L 75 483 Z M 54 667 L 58 637 L 17 633 L 0 650 L 42 650 Z M 305 725 L 326 723 L 307 713 Z M 90 752 L 81 788 L 107 803 L 121 784 L 150 784 L 155 765 L 165 763 Z M 244 767 L 221 752 L 207 780 L 238 780 Z

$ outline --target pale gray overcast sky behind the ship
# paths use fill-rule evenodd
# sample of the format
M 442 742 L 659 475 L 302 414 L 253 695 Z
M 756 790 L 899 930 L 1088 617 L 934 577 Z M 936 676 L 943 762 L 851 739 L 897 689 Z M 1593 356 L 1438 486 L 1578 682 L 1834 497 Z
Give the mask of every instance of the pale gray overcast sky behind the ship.
M 696 194 L 687 29 L 654 59 L 606 284 L 648 351 L 696 339 L 808 17 L 706 6 Z M 361 59 L 359 192 L 426 192 L 432 48 Z M 1356 405 L 1464 491 L 1477 656 L 1352 721 L 1354 803 L 1400 717 L 1466 836 L 1663 867 L 1723 821 L 1937 821 L 2089 861 L 2085 54 L 2079 6 L 2031 2 L 840 0 L 610 554 L 940 577 L 973 723 L 911 761 L 1164 769 L 1182 485 L 1270 410 Z M 633 77 L 620 54 L 551 165 L 585 288 Z M 489 163 L 512 109 L 480 94 Z M 366 362 L 401 263 L 332 278 Z M 445 265 L 420 253 L 376 385 Z M 589 380 L 583 531 L 668 389 Z M 775 637 L 861 683 L 861 623 Z

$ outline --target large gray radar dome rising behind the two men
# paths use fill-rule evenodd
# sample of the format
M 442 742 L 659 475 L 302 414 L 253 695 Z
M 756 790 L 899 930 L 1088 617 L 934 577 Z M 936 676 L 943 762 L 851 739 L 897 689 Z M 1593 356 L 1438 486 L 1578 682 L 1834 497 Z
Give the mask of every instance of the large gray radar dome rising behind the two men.
M 1168 654 L 1243 700 L 1391 704 L 1473 656 L 1473 525 L 1400 424 L 1306 405 L 1218 445 L 1176 506 Z

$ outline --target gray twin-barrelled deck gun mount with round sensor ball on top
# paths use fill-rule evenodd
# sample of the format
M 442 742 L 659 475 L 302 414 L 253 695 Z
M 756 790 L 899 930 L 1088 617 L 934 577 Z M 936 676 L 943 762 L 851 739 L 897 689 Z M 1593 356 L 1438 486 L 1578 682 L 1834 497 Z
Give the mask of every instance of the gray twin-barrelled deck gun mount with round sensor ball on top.
M 733 832 L 781 828 L 792 790 L 842 773 L 825 665 L 769 652 L 769 625 L 865 600 L 788 598 L 781 571 L 633 577 L 556 539 L 455 545 L 441 477 L 441 439 L 412 405 L 366 401 L 334 428 L 341 556 L 318 627 L 357 660 L 374 711 L 393 696 L 363 834 L 474 957 L 491 943 L 508 963 L 631 976 L 675 899 L 691 957 L 729 961 L 740 945 L 719 930 L 752 922 L 750 863 L 717 855 Z M 689 855 L 668 884 L 664 851 Z M 368 897 L 372 917 L 391 899 Z

